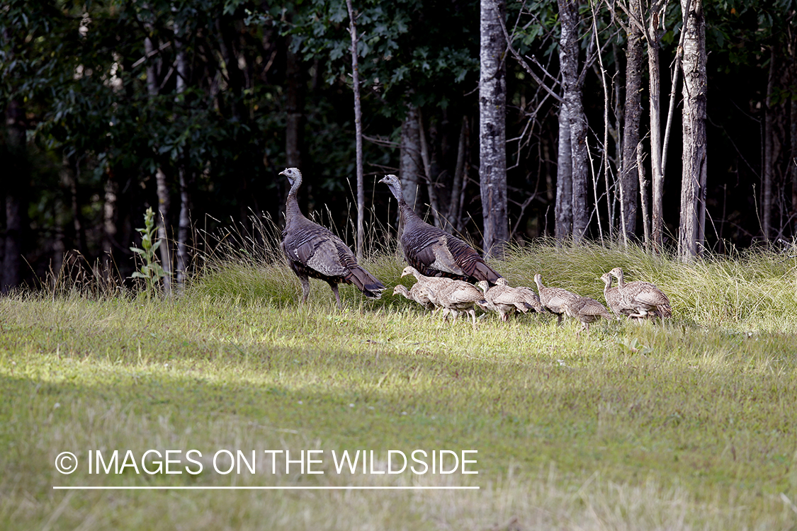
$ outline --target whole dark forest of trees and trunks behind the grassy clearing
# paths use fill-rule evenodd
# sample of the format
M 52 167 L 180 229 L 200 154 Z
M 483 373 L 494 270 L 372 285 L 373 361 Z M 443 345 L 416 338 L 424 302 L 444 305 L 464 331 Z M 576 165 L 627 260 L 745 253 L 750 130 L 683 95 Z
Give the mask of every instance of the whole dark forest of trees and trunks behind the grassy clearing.
M 303 170 L 304 212 L 352 247 L 358 184 L 380 236 L 365 245 L 395 231 L 387 173 L 488 252 L 554 236 L 692 260 L 791 241 L 795 7 L 4 2 L 2 289 L 75 262 L 127 277 L 148 207 L 180 283 L 202 232 L 283 223 L 285 166 Z

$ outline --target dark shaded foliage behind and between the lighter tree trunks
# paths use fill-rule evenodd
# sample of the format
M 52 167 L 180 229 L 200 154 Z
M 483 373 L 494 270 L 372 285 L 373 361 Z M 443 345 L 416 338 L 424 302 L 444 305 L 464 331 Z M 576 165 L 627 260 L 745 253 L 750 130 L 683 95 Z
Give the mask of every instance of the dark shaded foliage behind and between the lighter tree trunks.
M 671 4 L 663 24 L 663 95 L 669 95 L 667 66 L 681 28 L 680 7 Z M 584 4 L 579 29 L 582 60 L 598 43 L 611 83 L 611 136 L 604 149 L 601 76 L 597 62 L 587 64 L 584 107 L 592 172 L 603 183 L 600 158 L 607 154 L 614 196 L 627 27 L 627 15 L 615 8 Z M 395 223 L 387 189 L 376 181 L 397 172 L 402 119 L 407 105 L 414 105 L 422 111 L 438 190 L 450 185 L 464 145 L 461 217 L 465 232 L 477 236 L 478 6 L 458 0 L 366 0 L 355 2 L 355 10 L 367 206 L 373 204 L 367 222 Z M 797 174 L 791 170 L 797 146 L 791 103 L 797 80 L 794 2 L 729 0 L 709 2 L 705 10 L 709 248 L 724 252 L 728 245 L 761 239 L 767 108 L 775 131 L 770 238 L 790 239 L 797 225 Z M 510 3 L 507 12 L 513 44 L 559 91 L 555 4 Z M 0 226 L 4 236 L 22 232 L 28 276 L 60 268 L 70 249 L 89 263 L 112 259 L 129 275 L 135 267 L 129 247 L 144 210 L 163 209 L 156 191 L 159 171 L 171 197 L 167 225 L 175 231 L 181 192 L 196 228 L 246 223 L 252 213 L 278 222 L 286 189 L 277 173 L 287 163 L 291 139 L 285 131 L 292 116 L 301 124 L 296 146 L 305 174 L 304 208 L 329 217 L 326 222 L 344 236 L 351 232 L 355 143 L 347 27 L 344 2 L 328 0 L 4 3 L 0 112 L 6 134 L 0 157 L 7 208 Z M 505 61 L 509 226 L 512 238 L 523 242 L 552 233 L 559 103 L 510 55 Z M 662 107 L 666 111 L 665 101 Z M 470 133 L 461 143 L 463 119 Z M 677 136 L 678 112 L 673 131 Z M 19 138 L 25 139 L 22 147 Z M 679 158 L 679 143 L 673 141 L 664 197 L 670 236 L 677 231 Z M 607 207 L 618 198 L 607 203 L 606 189 L 604 184 L 590 189 L 591 205 L 599 205 L 591 216 L 595 238 L 599 223 L 618 226 L 618 214 Z M 426 201 L 421 190 L 418 204 Z M 19 220 L 9 217 L 16 212 L 9 210 L 11 204 L 22 205 L 19 228 L 14 225 Z

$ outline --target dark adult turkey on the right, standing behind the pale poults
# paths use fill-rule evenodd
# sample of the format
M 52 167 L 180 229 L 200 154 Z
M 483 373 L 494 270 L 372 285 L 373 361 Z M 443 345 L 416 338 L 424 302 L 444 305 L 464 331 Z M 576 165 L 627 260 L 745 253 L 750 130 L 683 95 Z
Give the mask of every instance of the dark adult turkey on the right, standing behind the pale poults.
M 487 280 L 491 284 L 501 278 L 464 241 L 418 217 L 404 201 L 401 183 L 395 175 L 385 175 L 379 182 L 386 184 L 398 201 L 398 212 L 404 225 L 401 246 L 407 264 L 426 276 L 446 276 L 473 283 Z

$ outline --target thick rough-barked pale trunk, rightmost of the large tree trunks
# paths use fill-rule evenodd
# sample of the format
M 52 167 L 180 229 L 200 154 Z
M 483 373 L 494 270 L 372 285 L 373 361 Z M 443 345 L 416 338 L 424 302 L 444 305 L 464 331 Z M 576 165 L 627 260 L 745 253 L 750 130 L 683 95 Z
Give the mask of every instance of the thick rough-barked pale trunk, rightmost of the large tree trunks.
M 683 175 L 678 256 L 689 262 L 701 252 L 701 208 L 705 208 L 706 175 L 706 53 L 702 0 L 681 0 L 689 9 L 684 39 Z

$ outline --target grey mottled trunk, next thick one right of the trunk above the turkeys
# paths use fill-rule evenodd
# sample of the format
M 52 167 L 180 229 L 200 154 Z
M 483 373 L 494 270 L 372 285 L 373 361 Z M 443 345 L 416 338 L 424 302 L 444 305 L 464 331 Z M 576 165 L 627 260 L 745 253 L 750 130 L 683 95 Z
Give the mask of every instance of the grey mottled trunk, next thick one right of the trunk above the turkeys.
M 575 0 L 559 0 L 558 3 L 559 21 L 562 26 L 561 37 L 559 37 L 559 62 L 562 69 L 563 96 L 570 125 L 573 241 L 579 242 L 587 236 L 587 225 L 589 224 L 587 117 L 583 111 L 582 85 L 579 80 L 579 6 Z

